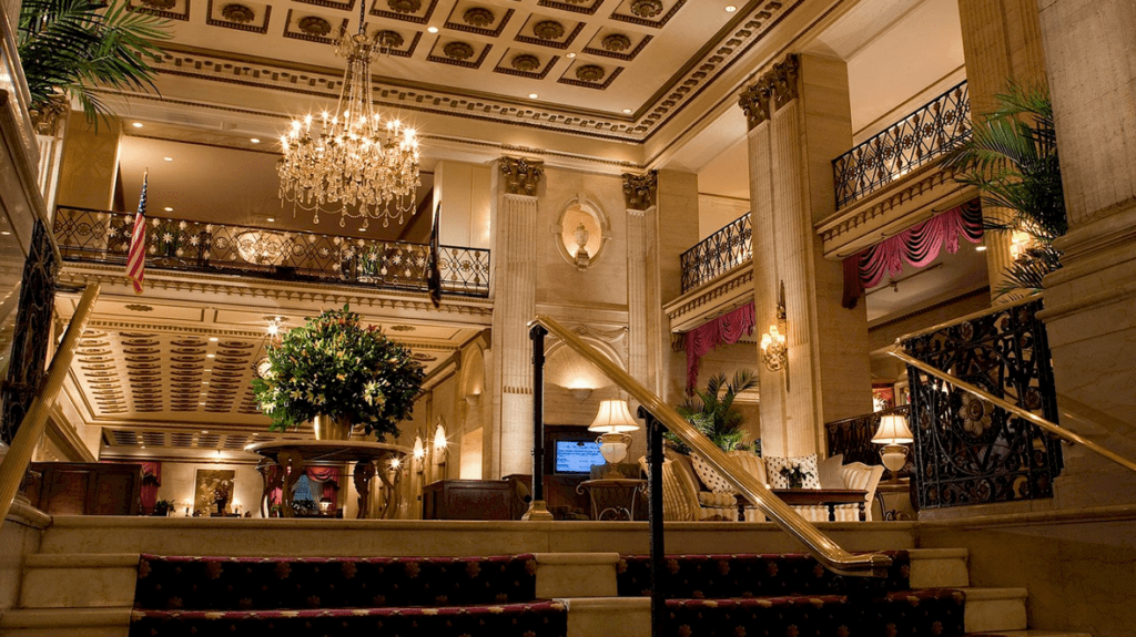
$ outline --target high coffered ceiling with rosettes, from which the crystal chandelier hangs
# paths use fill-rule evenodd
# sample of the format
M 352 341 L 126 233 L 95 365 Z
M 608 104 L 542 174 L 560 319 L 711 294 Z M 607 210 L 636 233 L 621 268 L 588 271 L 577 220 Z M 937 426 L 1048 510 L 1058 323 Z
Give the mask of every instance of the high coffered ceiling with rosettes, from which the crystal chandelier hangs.
M 128 0 L 169 19 L 159 88 L 220 83 L 201 103 L 244 90 L 337 95 L 334 42 L 366 28 L 389 44 L 373 63 L 376 99 L 411 111 L 642 141 L 766 42 L 803 0 Z M 241 88 L 237 88 L 241 87 Z M 726 91 L 733 86 L 725 87 Z M 260 109 L 287 109 L 279 100 Z

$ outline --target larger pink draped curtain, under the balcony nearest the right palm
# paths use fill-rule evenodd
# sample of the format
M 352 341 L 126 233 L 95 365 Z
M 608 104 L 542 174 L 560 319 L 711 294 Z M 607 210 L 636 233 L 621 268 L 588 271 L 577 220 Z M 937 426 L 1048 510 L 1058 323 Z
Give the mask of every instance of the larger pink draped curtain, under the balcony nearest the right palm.
M 864 289 L 899 274 L 903 263 L 925 267 L 944 247 L 950 254 L 959 252 L 960 237 L 972 244 L 983 240 L 983 213 L 977 202 L 951 209 L 845 258 L 842 305 L 855 307 Z

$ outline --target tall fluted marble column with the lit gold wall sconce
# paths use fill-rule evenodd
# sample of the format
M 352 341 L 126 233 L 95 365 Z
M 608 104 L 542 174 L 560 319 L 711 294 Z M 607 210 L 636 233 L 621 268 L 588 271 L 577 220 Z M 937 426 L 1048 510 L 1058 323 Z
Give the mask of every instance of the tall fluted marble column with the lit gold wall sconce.
M 822 455 L 824 423 L 871 410 L 864 304 L 841 307 L 841 263 L 824 258 L 812 229 L 835 212 L 830 160 L 852 145 L 845 65 L 790 56 L 741 105 L 750 127 L 758 329 L 775 322 L 782 281 L 788 323 L 787 372 L 758 363 L 762 450 Z

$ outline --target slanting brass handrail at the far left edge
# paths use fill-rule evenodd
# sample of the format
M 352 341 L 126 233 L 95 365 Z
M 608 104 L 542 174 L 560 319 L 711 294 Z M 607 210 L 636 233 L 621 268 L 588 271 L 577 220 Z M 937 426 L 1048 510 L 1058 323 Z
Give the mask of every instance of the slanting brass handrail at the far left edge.
M 16 431 L 16 438 L 12 439 L 8 453 L 0 462 L 0 521 L 3 521 L 8 516 L 12 499 L 19 491 L 19 484 L 24 482 L 27 465 L 32 461 L 32 452 L 40 439 L 43 438 L 48 411 L 55 402 L 64 380 L 70 373 L 72 359 L 75 358 L 75 350 L 78 349 L 78 341 L 86 328 L 86 321 L 94 311 L 94 301 L 99 299 L 99 283 L 92 283 L 83 291 L 83 297 L 78 300 L 78 306 L 67 325 L 67 332 L 64 333 L 59 349 L 51 358 L 51 366 L 48 367 L 43 387 L 27 408 L 27 414 L 24 415 L 24 419 Z

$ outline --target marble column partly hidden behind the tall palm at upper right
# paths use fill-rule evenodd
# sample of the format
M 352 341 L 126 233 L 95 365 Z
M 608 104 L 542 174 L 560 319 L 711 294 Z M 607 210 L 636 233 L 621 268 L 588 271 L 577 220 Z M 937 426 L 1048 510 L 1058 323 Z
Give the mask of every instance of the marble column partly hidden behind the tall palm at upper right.
M 1037 0 L 959 0 L 959 20 L 974 120 L 995 110 L 995 96 L 1005 93 L 1011 84 L 1028 87 L 1045 83 Z M 986 207 L 984 214 L 996 216 L 999 211 Z M 992 299 L 1011 300 L 997 298 L 1003 272 L 1013 263 L 1010 235 L 987 232 L 983 244 Z

